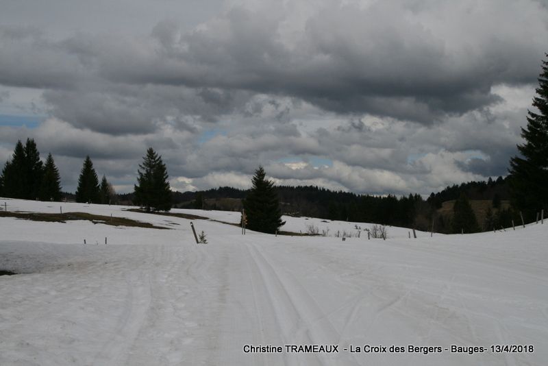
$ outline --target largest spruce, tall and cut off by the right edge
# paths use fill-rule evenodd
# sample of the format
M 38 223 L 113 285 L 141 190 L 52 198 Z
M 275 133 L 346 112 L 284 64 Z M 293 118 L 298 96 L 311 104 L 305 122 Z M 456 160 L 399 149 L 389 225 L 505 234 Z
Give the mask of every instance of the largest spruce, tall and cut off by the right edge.
M 542 69 L 532 104 L 538 113 L 527 111 L 527 126 L 521 128 L 525 143 L 517 145 L 521 156 L 510 159 L 509 169 L 512 206 L 523 210 L 528 219 L 548 209 L 548 60 Z

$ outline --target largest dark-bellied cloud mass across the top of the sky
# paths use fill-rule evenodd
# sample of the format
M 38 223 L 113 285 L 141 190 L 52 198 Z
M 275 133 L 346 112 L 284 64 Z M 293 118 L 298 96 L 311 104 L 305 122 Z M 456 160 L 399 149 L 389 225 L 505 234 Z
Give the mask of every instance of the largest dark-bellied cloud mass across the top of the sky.
M 434 4 L 410 16 L 390 1 L 366 9 L 329 5 L 310 16 L 293 48 L 279 39 L 278 17 L 232 8 L 190 33 L 160 23 L 152 32 L 155 53 L 122 47 L 114 52 L 132 61 L 122 64 L 122 56 L 110 56 L 100 72 L 127 83 L 292 95 L 337 113 L 425 124 L 500 101 L 490 92 L 494 84 L 534 82 L 543 54 L 538 36 L 524 44 L 504 29 L 499 36 L 489 33 L 494 23 L 512 19 L 510 11 L 496 12 L 499 19 L 484 24 L 471 19 L 486 35 L 466 39 L 471 34 L 461 29 L 454 49 L 443 33 L 419 22 L 436 11 Z M 545 25 L 537 30 L 546 34 Z

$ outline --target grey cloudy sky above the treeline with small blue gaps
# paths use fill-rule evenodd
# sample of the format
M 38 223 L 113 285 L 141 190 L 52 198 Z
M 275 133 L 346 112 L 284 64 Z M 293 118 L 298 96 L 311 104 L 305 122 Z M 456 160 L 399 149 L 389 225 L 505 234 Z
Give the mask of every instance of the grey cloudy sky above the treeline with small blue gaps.
M 421 193 L 506 175 L 547 0 L 0 0 L 0 161 L 32 137 L 66 191 L 89 155 L 132 191 Z

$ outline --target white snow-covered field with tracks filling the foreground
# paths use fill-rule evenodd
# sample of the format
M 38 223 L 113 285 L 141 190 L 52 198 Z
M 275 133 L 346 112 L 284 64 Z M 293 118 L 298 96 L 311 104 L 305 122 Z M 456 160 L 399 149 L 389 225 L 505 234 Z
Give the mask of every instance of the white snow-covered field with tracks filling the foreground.
M 386 241 L 364 232 L 342 241 L 242 236 L 196 220 L 208 239 L 197 245 L 186 219 L 4 202 L 8 210 L 62 206 L 171 230 L 0 218 L 0 269 L 21 273 L 0 276 L 0 365 L 548 365 L 548 223 L 418 239 L 388 228 Z M 293 232 L 310 224 L 331 235 L 357 232 L 354 223 L 284 219 Z M 282 352 L 244 352 L 246 345 Z M 338 353 L 286 345 L 338 345 Z M 410 353 L 409 345 L 442 352 Z M 532 345 L 534 353 L 494 353 L 491 345 Z

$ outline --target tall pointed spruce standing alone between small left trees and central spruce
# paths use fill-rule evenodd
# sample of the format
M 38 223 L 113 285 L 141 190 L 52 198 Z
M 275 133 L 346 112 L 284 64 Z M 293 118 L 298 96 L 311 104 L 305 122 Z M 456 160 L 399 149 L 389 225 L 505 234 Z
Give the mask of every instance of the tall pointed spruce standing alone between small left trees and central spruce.
M 158 156 L 152 147 L 147 149 L 147 155 L 143 157 L 137 171 L 137 184 L 135 185 L 135 203 L 144 207 L 147 212 L 171 210 L 171 187 L 169 175 L 162 157 Z

